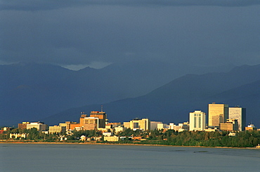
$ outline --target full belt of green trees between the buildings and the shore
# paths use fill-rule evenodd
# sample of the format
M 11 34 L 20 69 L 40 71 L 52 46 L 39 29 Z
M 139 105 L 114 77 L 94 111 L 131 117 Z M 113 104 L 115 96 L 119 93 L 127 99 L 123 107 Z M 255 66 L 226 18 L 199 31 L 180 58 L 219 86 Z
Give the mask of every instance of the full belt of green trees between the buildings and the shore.
M 10 133 L 27 133 L 27 138 L 10 138 Z M 146 144 L 146 145 L 178 145 L 178 146 L 204 146 L 204 147 L 256 147 L 260 143 L 260 131 L 240 131 L 235 136 L 229 136 L 226 131 L 133 131 L 126 129 L 117 133 L 117 136 L 124 136 L 124 140 L 118 142 L 100 141 L 98 143 L 119 143 L 119 144 Z M 70 142 L 79 143 L 81 135 L 86 138 L 102 136 L 100 131 L 72 131 L 72 134 L 46 134 L 37 131 L 15 128 L 11 131 L 4 131 L 0 134 L 0 140 L 20 140 L 24 142 Z M 131 137 L 141 138 L 139 140 Z M 60 139 L 67 138 L 67 140 Z

